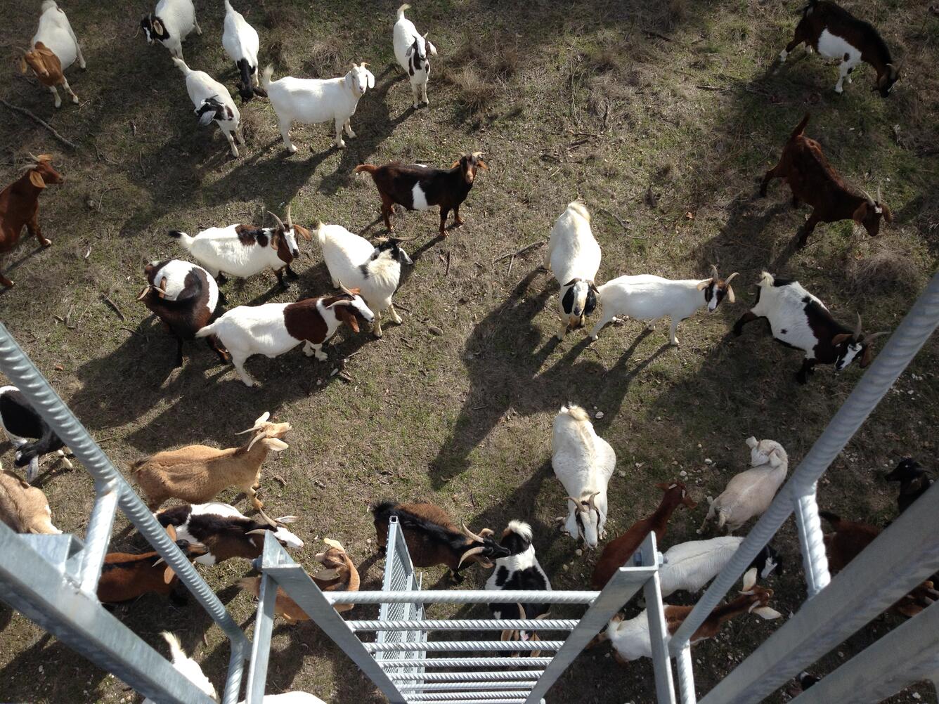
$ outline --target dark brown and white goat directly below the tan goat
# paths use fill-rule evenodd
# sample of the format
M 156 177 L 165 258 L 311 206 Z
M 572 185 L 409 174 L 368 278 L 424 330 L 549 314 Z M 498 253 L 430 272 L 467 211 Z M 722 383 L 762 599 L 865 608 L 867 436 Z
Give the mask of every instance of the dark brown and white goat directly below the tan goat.
M 163 528 L 176 528 L 179 540 L 206 548 L 206 554 L 195 559 L 201 565 L 232 558 L 259 558 L 268 532 L 286 547 L 303 547 L 303 541 L 286 528 L 297 516 L 271 518 L 263 510 L 260 514 L 261 519 L 254 520 L 226 503 L 184 503 L 153 515 Z

